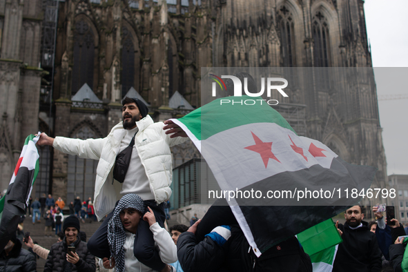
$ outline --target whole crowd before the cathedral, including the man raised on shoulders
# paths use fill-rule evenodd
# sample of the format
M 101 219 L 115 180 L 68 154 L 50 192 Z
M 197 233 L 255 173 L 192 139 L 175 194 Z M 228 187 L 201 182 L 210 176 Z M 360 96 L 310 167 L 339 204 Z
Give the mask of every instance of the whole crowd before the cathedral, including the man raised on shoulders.
M 102 139 L 49 137 L 37 144 L 63 153 L 99 160 L 94 203 L 79 197 L 68 204 L 43 195 L 30 203 L 32 224 L 46 217 L 46 235 L 55 225 L 60 241 L 44 249 L 30 237 L 25 244 L 41 258 L 44 271 L 312 271 L 311 258 L 297 237 L 271 246 L 258 257 L 253 253 L 229 206 L 211 206 L 191 226 L 165 228 L 170 219 L 172 164 L 170 147 L 182 144 L 187 135 L 171 120 L 153 122 L 147 106 L 137 98 L 122 101 L 122 122 Z M 56 208 L 57 206 L 57 208 Z M 61 207 L 62 206 L 62 207 Z M 41 210 L 41 211 L 40 211 Z M 68 209 L 67 209 L 68 211 Z M 342 236 L 333 271 L 403 271 L 406 242 L 398 220 L 395 226 L 376 214 L 376 230 L 364 222 L 360 206 L 344 212 L 344 224 L 336 224 Z M 30 213 L 30 211 L 29 211 Z M 38 217 L 40 215 L 40 217 Z M 36 220 L 37 218 L 37 220 Z M 81 237 L 80 221 L 102 220 L 90 237 Z M 273 228 L 277 222 L 269 222 Z M 404 234 L 405 235 L 405 231 Z M 0 255 L 0 271 L 35 271 L 35 257 L 12 238 Z M 407 261 L 408 262 L 408 257 Z M 12 267 L 11 267 L 12 266 Z

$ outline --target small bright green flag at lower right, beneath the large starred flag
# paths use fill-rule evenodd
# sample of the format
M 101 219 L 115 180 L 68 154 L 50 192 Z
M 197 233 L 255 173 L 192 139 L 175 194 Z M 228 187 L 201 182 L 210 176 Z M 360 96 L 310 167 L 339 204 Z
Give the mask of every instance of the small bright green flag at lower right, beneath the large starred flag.
M 296 236 L 302 244 L 304 252 L 309 254 L 311 258 L 313 272 L 333 270 L 338 244 L 342 242 L 333 220 L 329 219 L 312 226 Z

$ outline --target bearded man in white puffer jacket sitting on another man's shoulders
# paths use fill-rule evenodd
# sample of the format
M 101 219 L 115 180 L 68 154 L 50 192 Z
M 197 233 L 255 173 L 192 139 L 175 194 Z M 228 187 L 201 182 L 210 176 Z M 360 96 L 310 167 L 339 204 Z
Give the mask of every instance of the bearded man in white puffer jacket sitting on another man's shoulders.
M 98 159 L 97 177 L 95 180 L 94 208 L 98 220 L 105 215 L 109 219 L 115 203 L 128 193 L 142 197 L 146 206 L 155 211 L 157 222 L 163 226 L 165 220 L 164 200 L 171 195 L 172 164 L 170 146 L 181 144 L 186 140 L 184 133 L 173 122 L 167 120 L 154 123 L 147 114 L 147 106 L 137 98 L 125 97 L 122 101 L 122 118 L 102 139 L 70 139 L 66 137 L 48 137 L 41 133 L 37 142 L 86 159 Z M 168 129 L 168 130 L 166 130 Z M 166 130 L 166 131 L 165 131 Z M 129 147 L 134 137 L 134 146 L 130 148 L 131 157 L 123 183 L 113 176 L 113 168 L 119 153 Z M 110 258 L 106 237 L 105 220 L 88 241 L 88 249 L 98 258 Z M 146 224 L 145 224 L 146 223 Z M 144 229 L 144 231 L 140 231 Z M 147 222 L 139 225 L 140 233 L 151 233 Z M 157 251 L 154 250 L 152 235 L 138 235 L 135 242 L 135 257 L 156 271 L 168 271 Z

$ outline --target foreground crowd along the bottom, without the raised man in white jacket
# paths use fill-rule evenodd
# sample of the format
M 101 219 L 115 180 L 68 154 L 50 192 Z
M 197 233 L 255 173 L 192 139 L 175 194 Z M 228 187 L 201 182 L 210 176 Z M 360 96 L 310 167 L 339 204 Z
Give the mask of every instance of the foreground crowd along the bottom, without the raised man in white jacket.
M 17 235 L 12 237 L 0 254 L 0 271 L 36 271 L 37 255 L 46 260 L 43 271 L 313 271 L 311 259 L 296 237 L 256 258 L 237 222 L 215 226 L 211 231 L 199 229 L 214 215 L 231 218 L 230 211 L 228 206 L 213 206 L 192 226 L 176 224 L 166 230 L 157 222 L 157 210 L 147 206 L 139 195 L 127 194 L 104 220 L 106 228 L 102 229 L 106 233 L 101 229 L 95 233 L 105 249 L 95 251 L 86 242 L 86 233 L 81 232 L 80 218 L 67 215 L 50 249 L 28 236 L 24 238 L 29 248 L 26 251 Z M 342 242 L 332 271 L 405 271 L 408 241 L 404 226 L 396 219 L 387 222 L 377 206 L 372 212 L 376 221 L 368 223 L 361 206 L 344 211 L 344 224 L 336 223 Z M 148 232 L 142 233 L 142 224 L 148 226 Z M 208 233 L 202 235 L 200 231 Z M 138 241 L 142 246 L 135 243 L 138 236 L 144 240 Z

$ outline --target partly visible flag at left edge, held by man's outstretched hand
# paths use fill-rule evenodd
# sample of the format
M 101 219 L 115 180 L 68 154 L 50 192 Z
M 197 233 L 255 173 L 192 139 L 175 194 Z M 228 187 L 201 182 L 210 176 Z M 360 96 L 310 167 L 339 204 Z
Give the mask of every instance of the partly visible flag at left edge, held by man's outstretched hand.
M 39 136 L 34 135 L 26 138 L 7 193 L 0 200 L 0 252 L 3 251 L 12 234 L 17 231 L 21 216 L 25 214 L 32 184 L 39 170 L 39 155 L 35 147 L 38 139 Z

